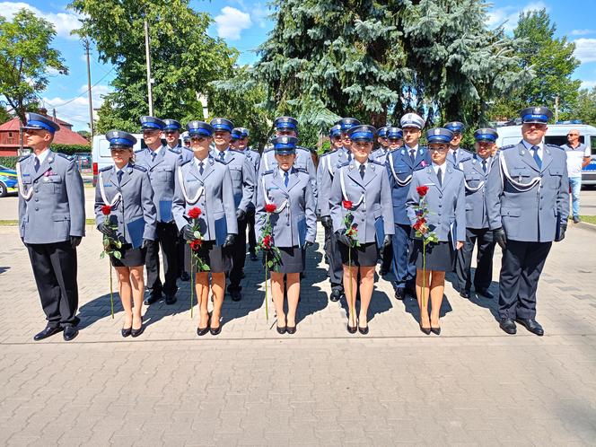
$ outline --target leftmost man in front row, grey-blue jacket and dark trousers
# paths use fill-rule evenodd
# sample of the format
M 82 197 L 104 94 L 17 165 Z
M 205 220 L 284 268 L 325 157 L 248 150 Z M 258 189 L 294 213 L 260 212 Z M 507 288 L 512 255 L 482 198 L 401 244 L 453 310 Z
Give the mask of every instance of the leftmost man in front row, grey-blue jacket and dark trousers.
M 48 320 L 46 329 L 33 337 L 36 341 L 61 330 L 66 341 L 78 334 L 76 247 L 84 236 L 83 180 L 72 157 L 49 149 L 59 128 L 29 113 L 23 132 L 33 153 L 21 157 L 16 166 L 19 233 Z

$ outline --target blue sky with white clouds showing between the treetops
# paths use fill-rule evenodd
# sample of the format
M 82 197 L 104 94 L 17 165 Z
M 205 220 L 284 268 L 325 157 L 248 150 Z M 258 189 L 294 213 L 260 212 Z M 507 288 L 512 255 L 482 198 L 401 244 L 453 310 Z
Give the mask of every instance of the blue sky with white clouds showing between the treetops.
M 10 18 L 14 12 L 26 7 L 54 23 L 57 30 L 54 47 L 62 52 L 70 73 L 52 75 L 48 89 L 41 96 L 50 113 L 55 108 L 59 118 L 73 123 L 75 130 L 82 130 L 88 128 L 89 122 L 87 73 L 83 46 L 80 40 L 69 35 L 78 26 L 77 17 L 66 9 L 66 4 L 68 1 L 64 0 L 0 2 L 0 13 Z M 191 0 L 190 4 L 197 11 L 211 14 L 215 22 L 208 30 L 209 34 L 222 37 L 229 45 L 238 48 L 241 64 L 255 61 L 252 50 L 267 39 L 267 32 L 273 27 L 267 19 L 267 0 Z M 596 17 L 594 0 L 495 0 L 489 10 L 488 25 L 495 27 L 504 22 L 505 29 L 511 31 L 522 10 L 540 8 L 547 8 L 551 20 L 556 22 L 557 35 L 566 35 L 577 45 L 575 56 L 582 65 L 575 71 L 574 78 L 581 79 L 584 87 L 596 86 L 596 21 L 585 20 Z M 111 66 L 100 64 L 93 55 L 93 107 L 99 107 L 101 95 L 110 92 L 113 76 Z

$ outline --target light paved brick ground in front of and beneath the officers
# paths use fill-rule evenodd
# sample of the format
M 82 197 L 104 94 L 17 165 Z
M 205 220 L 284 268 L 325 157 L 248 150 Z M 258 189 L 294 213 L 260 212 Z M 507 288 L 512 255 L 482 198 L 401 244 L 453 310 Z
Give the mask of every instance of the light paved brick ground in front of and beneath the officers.
M 377 283 L 370 334 L 346 332 L 321 248 L 302 281 L 298 331 L 265 319 L 263 272 L 226 296 L 220 336 L 198 338 L 188 283 L 120 337 L 107 260 L 79 249 L 81 333 L 33 342 L 44 316 L 16 227 L 0 227 L 0 443 L 5 445 L 589 445 L 596 443 L 595 232 L 570 228 L 539 285 L 546 335 L 506 336 L 495 302 L 445 290 L 441 337 L 416 302 Z M 320 228 L 318 241 L 322 243 Z M 500 252 L 495 256 L 498 279 Z M 493 283 L 491 290 L 497 292 Z M 269 307 L 272 309 L 272 306 Z

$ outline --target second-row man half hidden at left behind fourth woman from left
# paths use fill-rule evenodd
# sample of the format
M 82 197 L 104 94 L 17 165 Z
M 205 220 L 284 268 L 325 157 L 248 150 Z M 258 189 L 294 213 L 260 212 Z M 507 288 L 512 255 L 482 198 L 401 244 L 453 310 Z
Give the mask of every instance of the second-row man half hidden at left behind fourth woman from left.
M 342 118 L 334 127 L 331 127 L 329 138 L 331 139 L 332 151 L 320 157 L 319 167 L 317 169 L 317 179 L 320 186 L 319 215 L 320 223 L 325 229 L 325 246 L 327 247 L 325 253 L 329 261 L 329 281 L 331 283 L 329 300 L 332 302 L 339 301 L 344 294 L 344 267 L 341 263 L 337 238 L 335 232 L 333 232 L 333 221 L 331 220 L 329 208 L 329 194 L 337 169 L 346 164 L 346 162 L 352 161 L 352 151 L 345 145 L 346 141 L 349 145 L 352 144 L 349 136 L 347 136 L 347 130 L 359 125 L 360 121 L 355 118 Z

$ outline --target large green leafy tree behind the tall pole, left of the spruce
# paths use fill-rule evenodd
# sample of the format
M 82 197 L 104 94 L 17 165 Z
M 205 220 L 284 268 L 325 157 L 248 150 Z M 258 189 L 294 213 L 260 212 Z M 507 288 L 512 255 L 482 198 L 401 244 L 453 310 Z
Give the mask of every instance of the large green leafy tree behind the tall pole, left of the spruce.
M 145 19 L 149 23 L 153 114 L 186 123 L 203 118 L 199 93 L 211 97 L 209 83 L 232 75 L 238 52 L 207 36 L 211 18 L 188 6 L 188 0 L 74 0 L 84 14 L 76 31 L 92 39 L 99 58 L 115 66 L 114 92 L 105 96 L 98 131 L 138 131 L 149 112 L 145 72 Z M 211 104 L 210 104 L 211 106 Z

